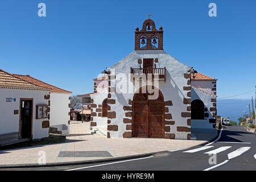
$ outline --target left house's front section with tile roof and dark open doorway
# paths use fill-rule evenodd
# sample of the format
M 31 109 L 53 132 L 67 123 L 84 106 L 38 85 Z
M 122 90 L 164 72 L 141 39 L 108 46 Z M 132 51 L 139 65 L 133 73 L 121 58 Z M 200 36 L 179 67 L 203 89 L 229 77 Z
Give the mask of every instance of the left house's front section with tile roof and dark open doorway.
M 48 137 L 50 91 L 0 69 L 0 135 L 18 133 L 19 138 L 28 139 Z

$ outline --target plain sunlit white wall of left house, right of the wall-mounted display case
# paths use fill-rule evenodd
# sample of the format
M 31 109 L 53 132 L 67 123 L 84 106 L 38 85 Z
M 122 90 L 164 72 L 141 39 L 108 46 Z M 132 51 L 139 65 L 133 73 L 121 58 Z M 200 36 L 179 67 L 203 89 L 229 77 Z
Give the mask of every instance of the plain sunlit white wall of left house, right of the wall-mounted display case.
M 63 131 L 63 134 L 69 134 L 68 121 L 70 119 L 70 116 L 68 115 L 68 113 L 70 112 L 70 108 L 68 107 L 68 104 L 70 104 L 70 96 L 71 94 L 69 93 L 50 94 L 50 126 L 56 127 L 58 131 Z

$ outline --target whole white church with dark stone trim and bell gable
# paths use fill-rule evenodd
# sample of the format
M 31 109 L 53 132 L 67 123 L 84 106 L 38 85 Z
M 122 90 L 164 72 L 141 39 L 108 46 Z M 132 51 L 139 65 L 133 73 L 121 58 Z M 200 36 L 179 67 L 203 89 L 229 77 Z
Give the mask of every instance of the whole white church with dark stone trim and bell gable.
M 216 81 L 164 52 L 163 27 L 147 19 L 135 50 L 94 79 L 91 126 L 108 138 L 217 135 Z

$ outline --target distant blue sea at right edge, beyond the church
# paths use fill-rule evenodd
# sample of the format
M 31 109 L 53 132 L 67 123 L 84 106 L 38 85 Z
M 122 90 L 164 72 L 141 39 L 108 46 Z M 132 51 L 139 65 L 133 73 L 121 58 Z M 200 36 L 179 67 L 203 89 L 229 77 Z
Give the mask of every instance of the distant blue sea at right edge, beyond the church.
M 233 121 L 238 122 L 238 118 L 243 117 L 246 113 L 249 115 L 249 108 L 247 105 L 251 105 L 250 99 L 219 99 L 217 98 L 217 115 L 221 117 L 229 117 Z M 255 98 L 253 100 L 255 107 Z M 252 106 L 251 110 L 252 110 Z

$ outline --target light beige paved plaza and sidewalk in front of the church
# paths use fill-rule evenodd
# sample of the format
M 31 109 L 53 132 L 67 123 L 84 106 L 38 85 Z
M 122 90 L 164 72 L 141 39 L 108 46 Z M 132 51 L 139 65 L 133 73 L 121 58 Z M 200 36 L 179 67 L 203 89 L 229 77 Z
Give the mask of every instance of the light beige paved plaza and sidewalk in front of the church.
M 46 152 L 46 163 L 63 163 L 176 150 L 207 142 L 156 138 L 106 138 L 98 134 L 90 134 L 90 122 L 71 122 L 70 133 L 65 143 L 0 151 L 0 165 L 38 164 L 40 151 Z

